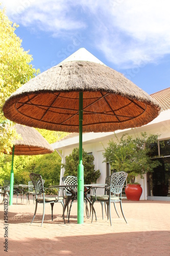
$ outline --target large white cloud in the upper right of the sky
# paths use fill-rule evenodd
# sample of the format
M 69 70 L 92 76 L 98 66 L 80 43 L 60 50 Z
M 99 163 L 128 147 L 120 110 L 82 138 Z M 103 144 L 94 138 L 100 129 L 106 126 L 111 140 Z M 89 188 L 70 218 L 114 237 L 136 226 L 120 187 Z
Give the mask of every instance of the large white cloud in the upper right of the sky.
M 95 28 L 96 47 L 121 68 L 156 62 L 170 53 L 168 6 L 166 0 L 114 1 L 103 9 L 105 23 Z

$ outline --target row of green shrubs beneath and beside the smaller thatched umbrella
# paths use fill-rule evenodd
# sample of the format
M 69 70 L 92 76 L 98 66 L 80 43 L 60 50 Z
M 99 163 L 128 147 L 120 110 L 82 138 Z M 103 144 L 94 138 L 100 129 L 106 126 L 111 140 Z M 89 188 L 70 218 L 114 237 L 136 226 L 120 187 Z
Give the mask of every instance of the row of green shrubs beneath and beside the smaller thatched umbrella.
M 12 156 L 0 158 L 0 184 L 10 180 Z M 30 173 L 37 173 L 45 180 L 45 187 L 59 184 L 61 159 L 57 152 L 38 156 L 14 156 L 14 184 L 28 184 Z

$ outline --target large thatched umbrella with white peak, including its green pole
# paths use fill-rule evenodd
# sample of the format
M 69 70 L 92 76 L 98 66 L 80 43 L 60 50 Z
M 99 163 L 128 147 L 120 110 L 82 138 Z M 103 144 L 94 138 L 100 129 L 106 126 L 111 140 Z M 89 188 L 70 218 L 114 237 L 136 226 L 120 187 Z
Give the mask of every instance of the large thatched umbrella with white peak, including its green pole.
M 23 84 L 7 99 L 3 111 L 18 123 L 79 131 L 78 223 L 83 223 L 82 132 L 138 127 L 157 117 L 160 109 L 133 82 L 82 48 Z

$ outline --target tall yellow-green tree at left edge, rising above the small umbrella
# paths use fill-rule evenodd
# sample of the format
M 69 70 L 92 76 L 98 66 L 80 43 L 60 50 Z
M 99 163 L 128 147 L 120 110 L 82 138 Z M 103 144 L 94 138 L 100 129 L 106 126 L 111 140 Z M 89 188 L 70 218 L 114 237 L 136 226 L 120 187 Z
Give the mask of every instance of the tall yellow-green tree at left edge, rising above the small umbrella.
M 11 151 L 13 141 L 17 138 L 16 132 L 7 129 L 7 119 L 3 115 L 5 100 L 23 83 L 39 73 L 30 64 L 32 55 L 21 47 L 22 40 L 16 36 L 18 26 L 8 19 L 5 10 L 0 10 L 0 154 Z M 8 127 L 12 126 L 8 123 Z

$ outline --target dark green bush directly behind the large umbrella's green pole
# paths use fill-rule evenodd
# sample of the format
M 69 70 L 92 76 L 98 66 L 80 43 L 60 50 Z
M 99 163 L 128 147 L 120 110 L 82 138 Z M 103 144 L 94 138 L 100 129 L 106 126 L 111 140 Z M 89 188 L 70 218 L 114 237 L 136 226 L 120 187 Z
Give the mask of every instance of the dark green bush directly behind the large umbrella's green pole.
M 96 182 L 100 177 L 100 170 L 94 169 L 94 157 L 93 155 L 88 155 L 87 152 L 83 150 L 83 165 L 84 165 L 84 183 L 90 184 L 91 182 Z M 79 148 L 74 148 L 69 156 L 66 156 L 66 162 L 62 165 L 64 167 L 64 176 L 72 175 L 77 176 L 79 165 Z

